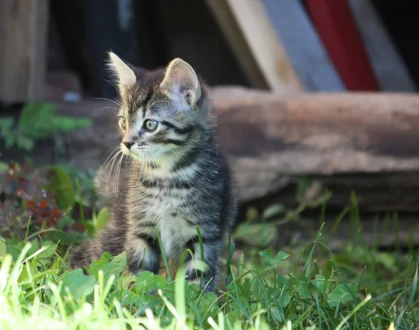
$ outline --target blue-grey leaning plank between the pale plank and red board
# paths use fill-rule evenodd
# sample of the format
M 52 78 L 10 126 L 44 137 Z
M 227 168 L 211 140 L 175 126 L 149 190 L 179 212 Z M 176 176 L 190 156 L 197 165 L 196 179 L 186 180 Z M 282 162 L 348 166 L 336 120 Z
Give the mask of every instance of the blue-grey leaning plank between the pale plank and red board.
M 298 77 L 307 91 L 344 91 L 316 29 L 300 1 L 263 0 Z

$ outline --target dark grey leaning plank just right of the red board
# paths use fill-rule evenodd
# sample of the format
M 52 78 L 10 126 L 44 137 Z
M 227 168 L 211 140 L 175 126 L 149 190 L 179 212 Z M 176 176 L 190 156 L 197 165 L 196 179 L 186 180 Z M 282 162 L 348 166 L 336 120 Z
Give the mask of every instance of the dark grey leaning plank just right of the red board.
M 381 90 L 416 91 L 409 71 L 373 4 L 365 0 L 348 0 L 348 3 Z

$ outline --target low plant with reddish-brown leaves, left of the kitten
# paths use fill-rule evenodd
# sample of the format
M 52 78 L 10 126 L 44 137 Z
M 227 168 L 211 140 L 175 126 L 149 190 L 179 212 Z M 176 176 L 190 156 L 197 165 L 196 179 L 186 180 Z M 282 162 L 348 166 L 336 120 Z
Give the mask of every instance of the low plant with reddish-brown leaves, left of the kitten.
M 10 163 L 0 171 L 0 235 L 78 241 L 87 228 L 73 220 L 73 213 L 87 203 L 77 199 L 82 190 L 76 193 L 75 186 L 59 166 Z

